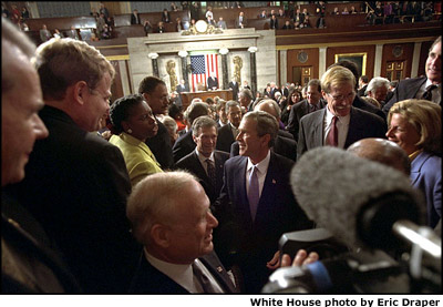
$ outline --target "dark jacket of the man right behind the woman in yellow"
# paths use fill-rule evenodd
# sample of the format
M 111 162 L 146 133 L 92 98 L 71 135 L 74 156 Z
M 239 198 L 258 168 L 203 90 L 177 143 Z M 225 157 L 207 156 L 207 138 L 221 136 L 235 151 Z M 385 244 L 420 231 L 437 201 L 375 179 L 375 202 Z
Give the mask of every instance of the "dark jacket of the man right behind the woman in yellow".
M 174 167 L 173 146 L 171 144 L 169 132 L 166 126 L 155 119 L 158 125 L 157 135 L 146 140 L 146 145 L 155 155 L 163 171 Z

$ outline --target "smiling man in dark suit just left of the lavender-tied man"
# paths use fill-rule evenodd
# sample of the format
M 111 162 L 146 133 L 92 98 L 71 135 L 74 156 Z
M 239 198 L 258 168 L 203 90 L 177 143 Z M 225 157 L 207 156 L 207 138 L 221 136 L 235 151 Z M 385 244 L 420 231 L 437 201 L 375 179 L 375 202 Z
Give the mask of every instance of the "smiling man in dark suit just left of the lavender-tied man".
M 213 204 L 220 194 L 223 166 L 229 154 L 215 150 L 217 123 L 209 116 L 196 119 L 192 131 L 194 143 L 197 144 L 196 150 L 181 158 L 175 166 L 196 175 Z

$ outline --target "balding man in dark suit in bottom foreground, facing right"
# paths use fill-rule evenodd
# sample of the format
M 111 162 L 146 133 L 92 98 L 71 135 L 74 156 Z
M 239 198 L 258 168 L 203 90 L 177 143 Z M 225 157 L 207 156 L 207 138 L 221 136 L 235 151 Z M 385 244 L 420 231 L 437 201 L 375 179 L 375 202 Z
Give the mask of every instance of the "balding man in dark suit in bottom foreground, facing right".
M 214 252 L 213 229 L 218 221 L 192 174 L 157 173 L 144 178 L 127 201 L 127 217 L 144 245 L 130 293 L 238 293 Z

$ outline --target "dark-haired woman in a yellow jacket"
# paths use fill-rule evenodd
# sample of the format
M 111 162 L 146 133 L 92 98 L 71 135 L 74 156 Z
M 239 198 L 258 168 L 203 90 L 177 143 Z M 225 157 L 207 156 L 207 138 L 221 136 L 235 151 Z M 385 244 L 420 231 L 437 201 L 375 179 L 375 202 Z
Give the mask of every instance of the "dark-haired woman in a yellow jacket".
M 135 94 L 117 99 L 111 105 L 110 117 L 119 133 L 111 136 L 110 143 L 122 151 L 132 186 L 147 175 L 163 172 L 145 144 L 147 137 L 157 134 L 158 125 L 144 98 Z

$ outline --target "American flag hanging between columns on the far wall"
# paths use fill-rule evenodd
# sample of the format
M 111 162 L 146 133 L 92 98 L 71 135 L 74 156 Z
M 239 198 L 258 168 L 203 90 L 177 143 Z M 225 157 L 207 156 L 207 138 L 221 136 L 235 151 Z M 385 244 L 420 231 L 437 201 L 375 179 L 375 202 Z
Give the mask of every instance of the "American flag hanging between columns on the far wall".
M 197 84 L 202 82 L 206 86 L 206 81 L 210 73 L 218 79 L 218 58 L 216 53 L 190 55 L 190 66 L 193 68 L 193 91 L 197 91 Z

